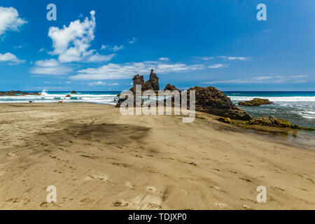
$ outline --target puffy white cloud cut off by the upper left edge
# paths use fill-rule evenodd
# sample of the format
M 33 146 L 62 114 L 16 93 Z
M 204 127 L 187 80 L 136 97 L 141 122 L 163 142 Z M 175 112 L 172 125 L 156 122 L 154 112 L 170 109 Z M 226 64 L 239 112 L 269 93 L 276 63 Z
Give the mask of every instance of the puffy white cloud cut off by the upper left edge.
M 9 30 L 18 31 L 25 23 L 27 21 L 19 17 L 18 10 L 0 6 L 0 36 Z

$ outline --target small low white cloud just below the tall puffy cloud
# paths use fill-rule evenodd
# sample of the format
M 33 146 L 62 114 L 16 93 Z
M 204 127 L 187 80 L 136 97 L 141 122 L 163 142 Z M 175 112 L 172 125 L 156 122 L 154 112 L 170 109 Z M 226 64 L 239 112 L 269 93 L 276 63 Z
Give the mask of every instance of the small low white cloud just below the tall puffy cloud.
M 69 66 L 60 64 L 56 59 L 45 59 L 35 62 L 36 67 L 29 70 L 30 73 L 40 75 L 64 75 L 73 70 Z

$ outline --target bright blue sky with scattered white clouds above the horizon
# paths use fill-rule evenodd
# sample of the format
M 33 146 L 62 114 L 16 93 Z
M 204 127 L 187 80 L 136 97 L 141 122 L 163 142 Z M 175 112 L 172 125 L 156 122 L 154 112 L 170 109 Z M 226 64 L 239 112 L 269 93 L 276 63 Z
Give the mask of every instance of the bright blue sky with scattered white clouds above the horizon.
M 0 90 L 126 90 L 153 68 L 160 87 L 314 91 L 314 12 L 309 0 L 0 0 Z

